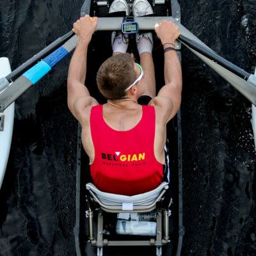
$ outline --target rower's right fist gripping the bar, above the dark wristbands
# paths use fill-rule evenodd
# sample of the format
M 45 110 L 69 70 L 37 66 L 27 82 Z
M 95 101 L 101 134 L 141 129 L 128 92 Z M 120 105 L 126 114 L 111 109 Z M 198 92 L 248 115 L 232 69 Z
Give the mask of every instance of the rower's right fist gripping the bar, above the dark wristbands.
M 161 43 L 163 45 L 166 43 L 175 44 L 175 39 L 179 36 L 179 27 L 173 22 L 167 20 L 163 20 L 163 22 L 158 25 L 159 26 L 155 28 L 155 31 L 156 35 L 161 40 Z

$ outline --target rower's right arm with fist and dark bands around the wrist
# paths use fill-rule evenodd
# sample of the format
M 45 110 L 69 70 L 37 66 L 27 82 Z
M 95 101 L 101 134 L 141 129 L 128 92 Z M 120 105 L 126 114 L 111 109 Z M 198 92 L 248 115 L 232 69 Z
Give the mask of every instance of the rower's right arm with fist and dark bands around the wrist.
M 161 26 L 156 28 L 156 33 L 161 39 L 164 49 L 173 47 L 175 39 L 179 35 L 179 27 L 164 20 Z M 165 114 L 164 120 L 168 122 L 179 110 L 181 101 L 182 72 L 176 51 L 164 52 L 164 82 L 165 85 L 159 90 L 157 97 L 152 102 L 155 102 L 162 109 Z

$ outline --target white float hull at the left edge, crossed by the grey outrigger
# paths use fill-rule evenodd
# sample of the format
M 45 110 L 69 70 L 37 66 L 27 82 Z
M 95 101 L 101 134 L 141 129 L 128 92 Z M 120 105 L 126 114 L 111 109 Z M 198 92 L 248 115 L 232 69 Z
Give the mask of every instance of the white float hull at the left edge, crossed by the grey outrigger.
M 0 77 L 7 76 L 11 71 L 8 58 L 0 58 Z M 12 143 L 14 106 L 15 103 L 13 102 L 3 113 L 0 113 L 1 118 L 4 118 L 3 131 L 0 131 L 0 188 L 3 183 Z

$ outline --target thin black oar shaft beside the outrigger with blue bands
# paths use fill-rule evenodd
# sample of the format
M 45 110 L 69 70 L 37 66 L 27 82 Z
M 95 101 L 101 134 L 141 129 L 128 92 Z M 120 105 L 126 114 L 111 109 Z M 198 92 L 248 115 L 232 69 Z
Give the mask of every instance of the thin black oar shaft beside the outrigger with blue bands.
M 36 62 L 42 60 L 45 58 L 47 55 L 49 55 L 51 52 L 56 50 L 60 45 L 63 45 L 65 42 L 67 42 L 68 39 L 70 39 L 74 35 L 73 31 L 69 31 L 67 34 L 59 37 L 56 39 L 54 42 L 49 44 L 47 47 L 45 47 L 42 51 L 38 52 L 35 54 L 32 58 L 24 62 L 19 68 L 16 68 L 6 76 L 6 80 L 10 83 L 15 79 L 16 77 L 20 76 L 23 74 L 26 70 L 31 68 L 33 65 L 35 65 Z

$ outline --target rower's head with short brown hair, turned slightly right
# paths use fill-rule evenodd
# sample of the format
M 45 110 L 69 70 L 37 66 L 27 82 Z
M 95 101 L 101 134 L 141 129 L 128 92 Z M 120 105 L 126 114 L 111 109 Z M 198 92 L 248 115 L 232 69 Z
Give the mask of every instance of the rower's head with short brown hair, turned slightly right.
M 132 54 L 116 54 L 104 61 L 97 72 L 100 93 L 109 100 L 127 98 L 129 86 L 140 76 L 141 70 L 134 63 Z

